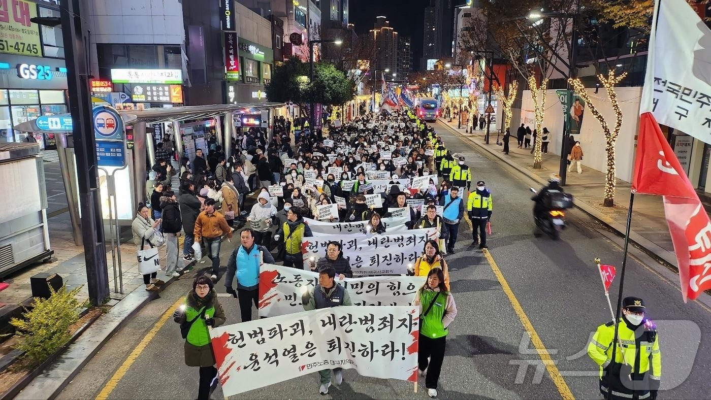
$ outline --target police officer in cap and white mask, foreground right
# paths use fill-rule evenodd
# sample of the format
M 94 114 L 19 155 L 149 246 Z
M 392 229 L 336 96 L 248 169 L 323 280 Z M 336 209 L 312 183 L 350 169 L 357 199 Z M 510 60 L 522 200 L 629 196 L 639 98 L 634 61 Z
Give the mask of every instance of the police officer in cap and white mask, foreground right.
M 622 301 L 615 360 L 611 360 L 613 322 L 597 327 L 587 346 L 587 354 L 600 366 L 600 393 L 605 398 L 609 391 L 615 400 L 657 397 L 662 360 L 656 326 L 645 318 L 645 310 L 641 298 L 626 297 Z

